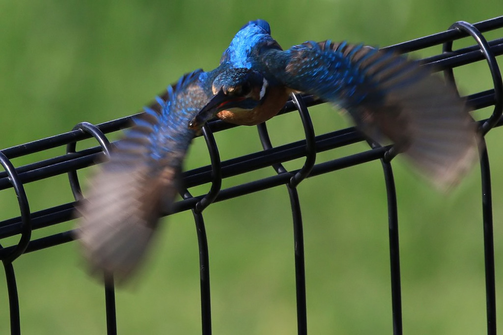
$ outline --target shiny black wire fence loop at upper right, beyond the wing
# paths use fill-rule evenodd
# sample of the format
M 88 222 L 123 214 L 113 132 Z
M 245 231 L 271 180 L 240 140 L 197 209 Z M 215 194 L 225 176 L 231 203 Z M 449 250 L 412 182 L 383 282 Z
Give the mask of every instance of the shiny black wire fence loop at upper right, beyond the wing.
M 503 114 L 503 82 L 501 81 L 501 72 L 499 71 L 499 66 L 496 61 L 496 57 L 494 53 L 491 51 L 491 47 L 487 40 L 482 35 L 482 33 L 475 28 L 472 24 L 465 21 L 458 21 L 454 23 L 449 29 L 457 29 L 459 31 L 464 31 L 472 36 L 477 44 L 480 47 L 480 51 L 484 55 L 487 65 L 489 66 L 489 70 L 491 72 L 492 83 L 494 85 L 494 110 L 492 115 L 480 126 L 479 131 L 484 136 L 487 134 L 492 127 L 496 125 Z M 452 51 L 452 43 L 453 41 L 445 42 L 442 51 L 443 52 L 451 52 Z M 446 78 L 451 81 L 456 87 L 456 81 L 454 79 L 454 72 L 452 68 L 448 68 L 444 70 L 444 74 Z M 457 87 L 456 87 L 457 89 Z

